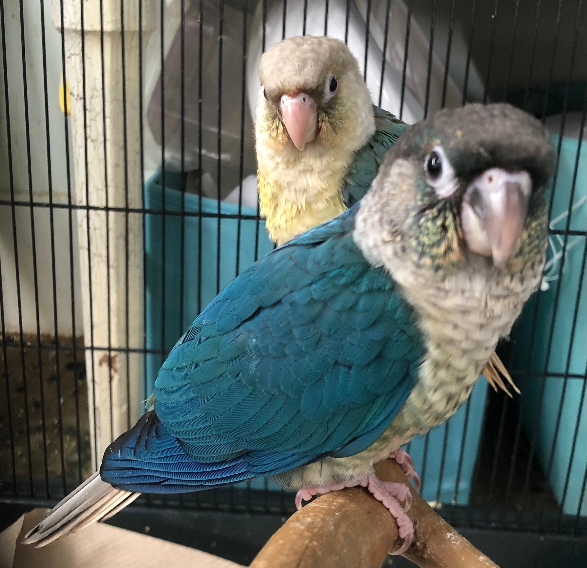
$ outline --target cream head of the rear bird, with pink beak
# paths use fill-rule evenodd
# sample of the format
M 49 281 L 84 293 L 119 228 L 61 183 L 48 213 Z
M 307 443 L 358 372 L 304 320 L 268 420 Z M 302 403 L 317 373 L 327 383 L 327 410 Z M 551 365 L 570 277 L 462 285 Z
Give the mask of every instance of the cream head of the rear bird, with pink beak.
M 283 151 L 355 151 L 375 130 L 359 65 L 338 39 L 298 36 L 269 47 L 259 80 L 255 130 Z

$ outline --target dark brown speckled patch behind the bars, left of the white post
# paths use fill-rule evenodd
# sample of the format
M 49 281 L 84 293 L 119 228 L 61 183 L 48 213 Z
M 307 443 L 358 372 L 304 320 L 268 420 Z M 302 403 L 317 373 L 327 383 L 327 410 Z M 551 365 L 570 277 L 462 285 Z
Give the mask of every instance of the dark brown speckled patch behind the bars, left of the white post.
M 11 492 L 5 486 L 12 485 L 14 474 L 17 485 L 23 488 L 19 491 L 21 495 L 25 491 L 31 492 L 31 478 L 35 495 L 45 494 L 45 479 L 48 479 L 50 486 L 62 484 L 62 463 L 67 487 L 72 489 L 79 482 L 80 472 L 84 478 L 91 473 L 83 339 L 78 338 L 76 341 L 75 360 L 73 349 L 59 349 L 59 373 L 55 349 L 50 348 L 55 345 L 54 337 L 42 336 L 43 348 L 39 350 L 36 347 L 36 334 L 25 334 L 22 357 L 19 335 L 6 334 L 5 340 L 6 363 L 4 352 L 0 350 L 0 375 L 8 375 L 6 384 L 2 386 L 4 392 L 0 396 L 0 492 Z M 59 345 L 71 346 L 72 338 L 59 337 Z M 7 403 L 8 393 L 10 406 Z M 12 415 L 12 433 L 9 409 Z M 27 436 L 27 413 L 30 436 Z M 14 438 L 14 470 L 11 437 Z

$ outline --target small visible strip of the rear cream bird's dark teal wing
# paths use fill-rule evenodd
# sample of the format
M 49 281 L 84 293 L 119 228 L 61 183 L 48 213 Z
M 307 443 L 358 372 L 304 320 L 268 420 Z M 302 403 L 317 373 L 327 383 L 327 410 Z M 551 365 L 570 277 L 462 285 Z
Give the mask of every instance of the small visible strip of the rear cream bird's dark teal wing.
M 408 125 L 383 108 L 373 105 L 375 132 L 360 148 L 350 163 L 342 188 L 347 207 L 353 206 L 370 188 L 379 167 L 394 142 L 404 133 Z

